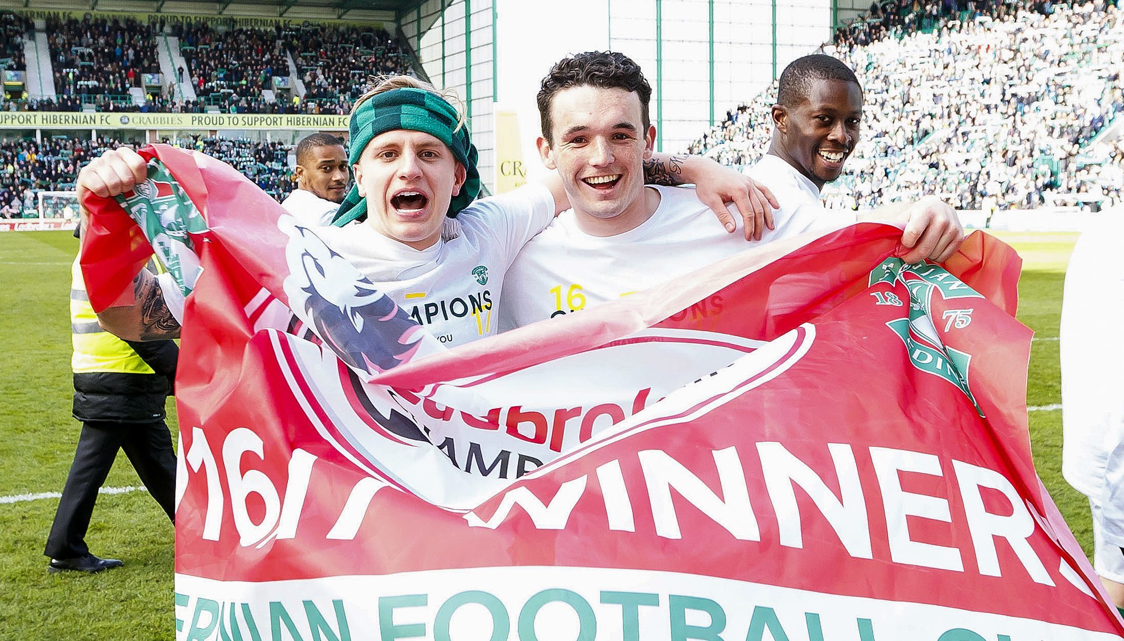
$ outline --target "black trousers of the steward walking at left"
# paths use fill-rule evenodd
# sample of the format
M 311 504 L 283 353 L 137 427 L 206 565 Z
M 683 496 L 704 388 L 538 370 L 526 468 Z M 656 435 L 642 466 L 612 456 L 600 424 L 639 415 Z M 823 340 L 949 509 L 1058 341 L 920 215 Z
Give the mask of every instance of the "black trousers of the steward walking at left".
M 85 531 L 90 526 L 98 489 L 106 482 L 119 449 L 125 450 L 140 481 L 174 523 L 175 450 L 172 449 L 167 425 L 163 421 L 87 421 L 82 423 L 74 462 L 66 476 L 66 486 L 58 500 L 44 554 L 52 559 L 73 559 L 90 552 L 85 545 Z

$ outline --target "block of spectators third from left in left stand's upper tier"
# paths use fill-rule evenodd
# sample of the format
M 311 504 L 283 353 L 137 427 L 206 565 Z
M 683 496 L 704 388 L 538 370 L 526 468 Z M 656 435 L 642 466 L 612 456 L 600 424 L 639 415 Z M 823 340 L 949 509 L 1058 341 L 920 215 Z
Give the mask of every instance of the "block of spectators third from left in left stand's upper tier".
M 200 99 L 260 99 L 263 90 L 273 88 L 274 75 L 289 75 L 280 26 L 221 30 L 200 19 L 173 24 L 172 34 L 180 39 L 187 73 Z

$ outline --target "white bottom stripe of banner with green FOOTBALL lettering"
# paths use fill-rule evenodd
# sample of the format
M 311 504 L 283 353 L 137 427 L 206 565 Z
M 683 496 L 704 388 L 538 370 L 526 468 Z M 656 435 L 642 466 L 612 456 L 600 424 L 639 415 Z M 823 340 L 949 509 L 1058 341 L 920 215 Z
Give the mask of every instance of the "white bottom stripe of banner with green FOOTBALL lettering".
M 551 598 L 556 602 L 564 598 L 566 605 L 551 603 L 544 607 L 540 601 L 543 593 L 535 594 L 544 585 L 554 586 L 555 594 L 564 594 Z M 1072 603 L 1075 607 L 1078 604 L 1096 607 L 1088 602 L 1081 603 L 1088 595 L 1081 594 L 1076 586 L 1060 584 L 1055 589 L 1058 598 L 1064 603 Z M 278 621 L 275 617 L 282 612 L 287 614 L 284 621 L 290 622 L 289 630 L 294 639 L 339 639 L 345 629 L 379 630 L 383 613 L 393 616 L 396 623 L 401 621 L 402 628 L 411 625 L 424 630 L 418 638 L 441 639 L 433 631 L 448 630 L 447 613 L 454 611 L 454 630 L 499 628 L 499 637 L 504 639 L 516 637 L 518 621 L 520 628 L 529 622 L 527 628 L 537 631 L 540 639 L 592 639 L 596 630 L 598 639 L 631 637 L 668 641 L 669 619 L 691 611 L 690 614 L 697 616 L 689 614 L 687 621 L 694 619 L 694 624 L 683 624 L 683 628 L 707 634 L 695 639 L 761 639 L 762 631 L 768 629 L 768 639 L 823 639 L 826 637 L 823 631 L 835 630 L 842 633 L 832 634 L 832 639 L 1120 641 L 1120 637 L 1107 632 L 958 607 L 616 568 L 473 568 L 253 583 L 221 583 L 176 574 L 175 592 L 176 628 L 182 626 L 176 638 L 181 641 L 218 639 L 219 630 L 200 622 L 214 622 L 220 613 L 223 631 L 228 632 L 225 638 L 238 638 L 235 631 L 242 639 L 257 638 L 257 631 L 270 621 Z M 465 594 L 474 595 L 475 601 L 461 601 Z M 637 603 L 635 596 L 642 594 L 651 601 L 643 607 L 631 605 Z M 620 614 L 617 599 L 622 595 L 634 599 L 629 602 L 631 617 Z M 372 607 L 373 603 L 380 604 L 382 610 Z M 475 605 L 462 607 L 466 603 Z M 241 604 L 241 607 L 230 604 Z M 575 611 L 578 616 L 574 616 Z M 314 616 L 316 623 L 312 623 Z M 706 628 L 704 621 L 709 622 Z M 722 623 L 714 623 L 716 621 Z M 807 632 L 809 628 L 816 632 Z M 546 630 L 554 633 L 547 637 L 543 634 Z M 473 638 L 482 637 L 474 634 Z

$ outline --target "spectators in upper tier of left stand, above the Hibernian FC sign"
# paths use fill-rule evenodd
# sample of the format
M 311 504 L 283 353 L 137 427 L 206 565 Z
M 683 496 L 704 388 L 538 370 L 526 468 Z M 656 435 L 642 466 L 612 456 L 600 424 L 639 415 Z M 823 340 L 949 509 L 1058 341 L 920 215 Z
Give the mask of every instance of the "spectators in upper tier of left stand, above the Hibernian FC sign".
M 25 29 L 34 24 L 16 13 L 0 12 L 0 60 L 22 65 Z M 242 28 L 203 18 L 164 18 L 140 22 L 133 18 L 82 19 L 60 12 L 46 18 L 55 96 L 10 100 L 4 108 L 28 111 L 94 109 L 98 111 L 346 115 L 372 76 L 409 73 L 410 63 L 389 33 L 373 27 L 300 26 Z M 184 66 L 166 87 L 145 85 L 144 74 L 158 74 L 158 38 L 175 36 Z M 2 48 L 7 47 L 7 48 Z M 10 49 L 10 51 L 9 51 Z M 17 58 L 18 54 L 18 58 Z M 299 94 L 288 82 L 302 80 Z M 179 82 L 191 83 L 197 99 L 182 100 Z M 147 101 L 129 96 L 144 89 Z M 274 90 L 271 97 L 266 90 Z

